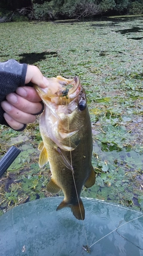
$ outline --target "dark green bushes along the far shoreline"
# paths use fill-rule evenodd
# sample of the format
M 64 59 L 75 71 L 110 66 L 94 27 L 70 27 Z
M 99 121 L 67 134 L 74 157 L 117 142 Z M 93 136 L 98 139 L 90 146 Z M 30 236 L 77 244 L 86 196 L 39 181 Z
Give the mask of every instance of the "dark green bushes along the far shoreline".
M 57 19 L 97 19 L 143 14 L 141 0 L 5 0 L 0 4 L 0 22 Z

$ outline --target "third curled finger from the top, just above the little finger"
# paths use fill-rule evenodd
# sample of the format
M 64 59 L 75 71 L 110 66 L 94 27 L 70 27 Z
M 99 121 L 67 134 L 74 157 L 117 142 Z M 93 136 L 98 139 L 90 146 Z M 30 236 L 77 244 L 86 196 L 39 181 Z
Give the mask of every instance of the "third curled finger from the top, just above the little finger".
M 11 116 L 11 118 L 21 124 L 33 123 L 36 120 L 36 116 L 17 109 L 7 101 L 2 101 L 1 107 L 9 116 Z

